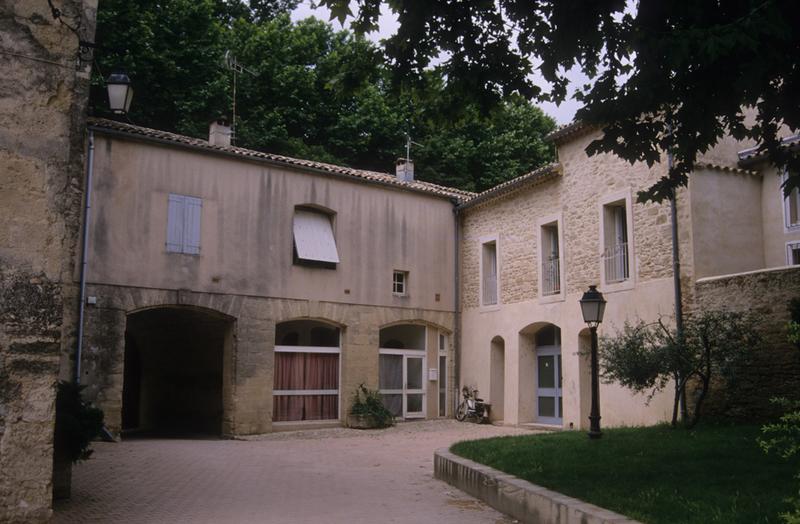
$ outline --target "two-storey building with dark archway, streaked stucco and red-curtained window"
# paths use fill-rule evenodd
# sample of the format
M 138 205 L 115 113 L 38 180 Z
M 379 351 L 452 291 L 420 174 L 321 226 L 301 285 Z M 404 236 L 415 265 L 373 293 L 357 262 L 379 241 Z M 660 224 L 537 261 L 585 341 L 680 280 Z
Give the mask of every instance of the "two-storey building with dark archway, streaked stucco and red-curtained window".
M 455 398 L 463 191 L 92 120 L 82 383 L 112 432 L 404 419 Z

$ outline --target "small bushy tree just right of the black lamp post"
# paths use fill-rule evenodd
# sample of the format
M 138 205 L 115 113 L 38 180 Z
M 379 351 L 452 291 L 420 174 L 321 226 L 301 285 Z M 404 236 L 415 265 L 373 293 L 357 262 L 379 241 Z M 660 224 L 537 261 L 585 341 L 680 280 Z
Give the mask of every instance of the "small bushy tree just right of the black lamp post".
M 613 337 L 601 339 L 602 376 L 608 382 L 637 392 L 648 400 L 675 384 L 672 424 L 677 425 L 682 394 L 693 388 L 694 427 L 712 387 L 730 387 L 737 373 L 759 347 L 756 318 L 742 313 L 704 311 L 686 318 L 683 333 L 659 319 L 655 323 L 625 323 Z

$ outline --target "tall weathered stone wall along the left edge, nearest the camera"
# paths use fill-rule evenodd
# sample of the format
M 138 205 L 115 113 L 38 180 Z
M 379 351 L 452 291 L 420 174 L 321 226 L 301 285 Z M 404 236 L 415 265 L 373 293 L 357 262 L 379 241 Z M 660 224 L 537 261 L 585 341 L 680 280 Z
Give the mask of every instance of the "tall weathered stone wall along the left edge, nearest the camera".
M 93 40 L 96 0 L 55 0 Z M 50 516 L 55 383 L 75 328 L 88 68 L 47 0 L 0 4 L 0 521 Z

